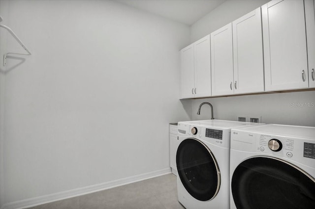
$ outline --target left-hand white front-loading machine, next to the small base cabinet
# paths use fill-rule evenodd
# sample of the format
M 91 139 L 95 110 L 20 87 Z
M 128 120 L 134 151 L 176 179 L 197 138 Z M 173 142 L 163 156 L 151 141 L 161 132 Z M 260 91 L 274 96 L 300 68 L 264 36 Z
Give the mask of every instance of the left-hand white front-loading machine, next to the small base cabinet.
M 204 120 L 178 123 L 179 202 L 187 209 L 229 208 L 230 130 L 256 123 Z

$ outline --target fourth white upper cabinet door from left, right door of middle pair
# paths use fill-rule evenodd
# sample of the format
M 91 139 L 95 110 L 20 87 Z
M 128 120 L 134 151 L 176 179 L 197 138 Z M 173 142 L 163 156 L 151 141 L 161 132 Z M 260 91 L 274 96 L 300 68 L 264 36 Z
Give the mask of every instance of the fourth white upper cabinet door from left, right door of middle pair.
M 232 28 L 234 94 L 264 91 L 260 8 L 234 21 Z

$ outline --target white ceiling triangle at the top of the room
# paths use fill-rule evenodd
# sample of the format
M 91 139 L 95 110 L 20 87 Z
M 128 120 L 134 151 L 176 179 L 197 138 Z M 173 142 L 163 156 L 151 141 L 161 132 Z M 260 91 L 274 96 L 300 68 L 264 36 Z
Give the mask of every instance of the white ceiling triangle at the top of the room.
M 116 0 L 147 12 L 192 25 L 225 0 Z

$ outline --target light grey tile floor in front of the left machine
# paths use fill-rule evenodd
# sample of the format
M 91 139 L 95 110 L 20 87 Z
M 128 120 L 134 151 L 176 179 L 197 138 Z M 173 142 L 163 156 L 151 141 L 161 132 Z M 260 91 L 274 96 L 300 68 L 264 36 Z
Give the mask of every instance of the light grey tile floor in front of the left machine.
M 177 200 L 176 176 L 130 183 L 30 209 L 184 209 Z

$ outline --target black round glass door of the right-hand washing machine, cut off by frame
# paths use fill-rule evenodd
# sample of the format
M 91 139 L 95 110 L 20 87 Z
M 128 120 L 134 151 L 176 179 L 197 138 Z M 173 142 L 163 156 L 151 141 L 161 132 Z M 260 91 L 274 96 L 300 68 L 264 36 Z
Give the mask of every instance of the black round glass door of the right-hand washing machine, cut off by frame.
M 233 173 L 238 209 L 315 209 L 315 180 L 300 168 L 274 157 L 253 157 Z

